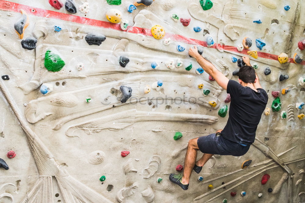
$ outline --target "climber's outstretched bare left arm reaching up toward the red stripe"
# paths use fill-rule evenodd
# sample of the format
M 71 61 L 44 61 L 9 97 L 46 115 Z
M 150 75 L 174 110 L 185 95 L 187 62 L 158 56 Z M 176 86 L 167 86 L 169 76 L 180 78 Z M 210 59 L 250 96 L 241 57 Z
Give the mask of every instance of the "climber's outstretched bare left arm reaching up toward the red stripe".
M 229 79 L 224 76 L 220 71 L 218 71 L 213 64 L 211 64 L 209 61 L 207 61 L 205 58 L 203 58 L 197 50 L 197 47 L 190 48 L 189 55 L 194 57 L 196 61 L 199 63 L 199 65 L 203 68 L 203 70 L 212 76 L 223 89 L 227 89 Z

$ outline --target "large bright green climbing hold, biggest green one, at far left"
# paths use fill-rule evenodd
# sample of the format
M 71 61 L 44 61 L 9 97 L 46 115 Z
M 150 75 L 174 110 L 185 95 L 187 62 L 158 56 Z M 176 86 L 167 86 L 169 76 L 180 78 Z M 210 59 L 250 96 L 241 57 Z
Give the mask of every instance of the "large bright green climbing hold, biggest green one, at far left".
M 54 51 L 48 50 L 45 52 L 45 68 L 48 71 L 58 72 L 66 65 L 65 61 L 60 58 Z

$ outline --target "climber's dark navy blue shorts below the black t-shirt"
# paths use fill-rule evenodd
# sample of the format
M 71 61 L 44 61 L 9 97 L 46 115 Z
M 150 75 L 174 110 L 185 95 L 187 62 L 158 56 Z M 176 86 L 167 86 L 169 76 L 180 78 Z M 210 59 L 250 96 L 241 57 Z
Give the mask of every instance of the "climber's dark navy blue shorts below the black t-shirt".
M 221 135 L 216 136 L 215 133 L 199 137 L 197 144 L 202 153 L 232 156 L 242 156 L 250 148 L 250 145 L 242 146 L 237 142 L 223 138 Z

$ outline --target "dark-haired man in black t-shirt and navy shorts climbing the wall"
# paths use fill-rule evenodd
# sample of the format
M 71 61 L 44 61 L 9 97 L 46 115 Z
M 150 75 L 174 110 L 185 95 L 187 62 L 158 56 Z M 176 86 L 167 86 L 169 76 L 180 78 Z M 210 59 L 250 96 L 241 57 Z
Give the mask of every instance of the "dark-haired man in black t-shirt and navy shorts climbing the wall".
M 192 170 L 200 173 L 203 165 L 214 155 L 242 156 L 248 152 L 255 140 L 255 132 L 264 112 L 268 96 L 260 86 L 249 57 L 242 57 L 245 66 L 239 69 L 239 83 L 229 80 L 213 64 L 204 59 L 196 47 L 190 48 L 189 55 L 194 57 L 204 71 L 216 80 L 218 85 L 231 95 L 229 118 L 223 130 L 216 133 L 191 139 L 185 155 L 184 173 L 170 174 L 170 181 L 178 184 L 183 190 L 188 189 Z M 203 156 L 196 162 L 197 151 Z M 245 165 L 247 163 L 243 163 Z

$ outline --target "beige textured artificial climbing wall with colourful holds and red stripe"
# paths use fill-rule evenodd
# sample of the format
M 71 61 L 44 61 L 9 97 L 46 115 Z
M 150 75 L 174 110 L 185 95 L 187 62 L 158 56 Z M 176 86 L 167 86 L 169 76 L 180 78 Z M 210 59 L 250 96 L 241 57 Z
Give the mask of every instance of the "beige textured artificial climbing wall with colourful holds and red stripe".
M 305 201 L 303 0 L 86 2 L 0 0 L 0 202 Z M 188 140 L 230 106 L 194 45 L 233 80 L 250 54 L 270 112 L 248 153 L 182 191 Z

